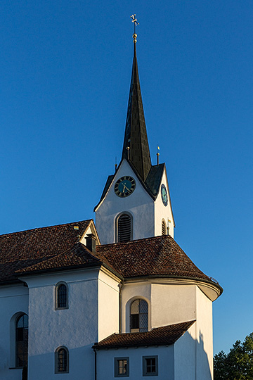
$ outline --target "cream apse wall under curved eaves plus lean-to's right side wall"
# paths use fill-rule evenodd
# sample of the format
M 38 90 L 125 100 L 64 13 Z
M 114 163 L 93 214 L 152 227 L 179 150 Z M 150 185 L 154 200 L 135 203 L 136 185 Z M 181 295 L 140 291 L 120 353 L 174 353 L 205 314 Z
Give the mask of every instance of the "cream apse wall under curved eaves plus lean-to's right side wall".
M 183 338 L 176 342 L 175 379 L 212 380 L 212 301 L 197 285 L 159 281 L 162 280 L 132 282 L 123 286 L 122 332 L 129 332 L 129 306 L 135 298 L 148 302 L 149 329 L 196 319 Z M 182 363 L 185 364 L 182 366 Z

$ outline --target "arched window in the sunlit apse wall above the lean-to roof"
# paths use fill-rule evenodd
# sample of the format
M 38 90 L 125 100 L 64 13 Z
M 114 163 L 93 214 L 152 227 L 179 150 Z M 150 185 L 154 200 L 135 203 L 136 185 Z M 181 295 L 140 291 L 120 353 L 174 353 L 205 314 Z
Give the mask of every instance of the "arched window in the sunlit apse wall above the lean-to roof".
M 130 331 L 148 331 L 148 303 L 145 300 L 134 300 L 131 303 Z

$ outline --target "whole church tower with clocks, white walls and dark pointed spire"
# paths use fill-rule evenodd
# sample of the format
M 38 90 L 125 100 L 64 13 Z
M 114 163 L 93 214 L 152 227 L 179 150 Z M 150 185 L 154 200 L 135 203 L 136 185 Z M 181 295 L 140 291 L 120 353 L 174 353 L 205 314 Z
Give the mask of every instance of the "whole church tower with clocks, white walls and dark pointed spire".
M 138 77 L 136 37 L 122 160 L 109 175 L 96 212 L 102 244 L 169 234 L 174 216 L 164 163 L 152 165 Z

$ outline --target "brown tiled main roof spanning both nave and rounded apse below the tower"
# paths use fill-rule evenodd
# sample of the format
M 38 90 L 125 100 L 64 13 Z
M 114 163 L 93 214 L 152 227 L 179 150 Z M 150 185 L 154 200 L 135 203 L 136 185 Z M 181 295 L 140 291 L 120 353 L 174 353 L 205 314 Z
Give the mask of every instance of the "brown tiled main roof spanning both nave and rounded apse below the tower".
M 78 242 L 78 236 L 86 232 L 90 223 L 91 220 L 84 220 L 1 235 L 0 282 L 17 281 L 20 275 L 41 271 L 105 265 L 124 279 L 183 277 L 214 284 L 171 236 L 96 246 L 93 254 Z M 216 286 L 221 289 L 219 284 Z

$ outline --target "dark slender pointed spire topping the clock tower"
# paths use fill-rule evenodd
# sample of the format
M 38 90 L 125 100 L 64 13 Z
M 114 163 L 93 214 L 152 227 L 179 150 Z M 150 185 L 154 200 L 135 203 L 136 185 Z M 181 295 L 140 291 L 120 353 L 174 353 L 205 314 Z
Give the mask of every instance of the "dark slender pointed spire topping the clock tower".
M 129 160 L 145 181 L 151 167 L 148 136 L 145 127 L 143 103 L 141 99 L 141 87 L 138 77 L 138 65 L 136 57 L 136 37 L 134 34 L 134 60 L 129 92 L 129 104 L 126 115 L 126 129 L 122 158 Z M 127 149 L 129 148 L 129 149 Z

